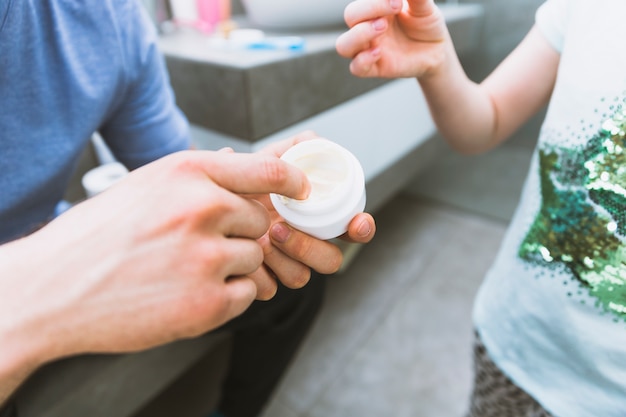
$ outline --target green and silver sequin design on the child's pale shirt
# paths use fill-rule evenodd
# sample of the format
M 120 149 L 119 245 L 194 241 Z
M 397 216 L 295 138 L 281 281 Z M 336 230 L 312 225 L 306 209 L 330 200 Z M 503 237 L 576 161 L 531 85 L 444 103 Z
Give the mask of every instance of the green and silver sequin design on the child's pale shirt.
M 539 170 L 541 208 L 519 257 L 566 269 L 603 312 L 626 321 L 626 109 L 582 148 L 543 146 Z

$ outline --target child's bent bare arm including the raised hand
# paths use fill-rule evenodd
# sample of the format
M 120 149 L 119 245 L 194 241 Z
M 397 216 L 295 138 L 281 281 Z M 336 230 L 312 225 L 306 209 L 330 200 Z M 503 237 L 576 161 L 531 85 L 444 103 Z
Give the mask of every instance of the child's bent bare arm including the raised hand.
M 460 152 L 499 144 L 545 106 L 552 92 L 559 54 L 535 28 L 477 84 L 465 75 L 432 0 L 357 0 L 345 18 L 350 30 L 337 40 L 337 51 L 352 58 L 352 73 L 416 77 L 439 131 Z

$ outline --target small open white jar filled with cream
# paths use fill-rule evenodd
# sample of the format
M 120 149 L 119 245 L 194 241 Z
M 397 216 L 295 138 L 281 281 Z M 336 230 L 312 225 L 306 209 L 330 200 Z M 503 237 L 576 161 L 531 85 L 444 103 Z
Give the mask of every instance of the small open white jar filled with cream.
M 311 183 L 306 200 L 270 194 L 274 208 L 294 228 L 328 240 L 348 230 L 365 208 L 365 177 L 356 157 L 326 139 L 301 142 L 281 157 L 300 168 Z

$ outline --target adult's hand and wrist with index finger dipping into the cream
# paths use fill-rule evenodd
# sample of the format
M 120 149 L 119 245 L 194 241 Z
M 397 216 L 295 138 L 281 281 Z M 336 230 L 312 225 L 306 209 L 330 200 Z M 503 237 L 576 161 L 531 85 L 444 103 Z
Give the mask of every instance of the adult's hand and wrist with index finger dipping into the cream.
M 241 195 L 305 198 L 309 187 L 275 156 L 180 152 L 0 246 L 0 377 L 193 337 L 239 315 L 257 296 L 245 275 L 262 264 L 257 239 L 270 225 Z

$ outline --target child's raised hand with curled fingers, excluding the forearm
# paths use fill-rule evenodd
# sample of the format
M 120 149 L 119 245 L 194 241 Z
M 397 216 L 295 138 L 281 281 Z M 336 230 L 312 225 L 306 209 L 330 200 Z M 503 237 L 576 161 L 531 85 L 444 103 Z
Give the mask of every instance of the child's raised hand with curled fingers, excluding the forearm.
M 337 39 L 337 52 L 352 59 L 350 71 L 359 77 L 430 74 L 451 45 L 433 0 L 356 0 L 344 17 L 350 30 Z

